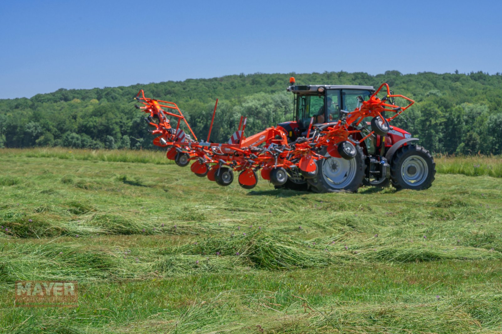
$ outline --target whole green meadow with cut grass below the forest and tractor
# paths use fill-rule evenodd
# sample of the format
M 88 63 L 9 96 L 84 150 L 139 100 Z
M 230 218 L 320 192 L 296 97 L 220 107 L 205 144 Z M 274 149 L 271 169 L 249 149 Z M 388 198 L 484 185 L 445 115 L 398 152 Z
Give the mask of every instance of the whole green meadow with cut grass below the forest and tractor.
M 313 194 L 161 151 L 0 149 L 0 332 L 500 332 L 501 166 Z M 15 307 L 16 280 L 76 280 L 79 307 Z

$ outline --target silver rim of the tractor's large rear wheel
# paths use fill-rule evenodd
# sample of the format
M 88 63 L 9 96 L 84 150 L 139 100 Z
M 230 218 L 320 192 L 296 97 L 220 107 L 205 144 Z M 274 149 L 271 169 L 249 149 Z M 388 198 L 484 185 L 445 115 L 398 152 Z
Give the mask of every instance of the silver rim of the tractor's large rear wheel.
M 322 163 L 322 176 L 331 188 L 342 189 L 350 185 L 356 174 L 355 158 L 328 157 Z

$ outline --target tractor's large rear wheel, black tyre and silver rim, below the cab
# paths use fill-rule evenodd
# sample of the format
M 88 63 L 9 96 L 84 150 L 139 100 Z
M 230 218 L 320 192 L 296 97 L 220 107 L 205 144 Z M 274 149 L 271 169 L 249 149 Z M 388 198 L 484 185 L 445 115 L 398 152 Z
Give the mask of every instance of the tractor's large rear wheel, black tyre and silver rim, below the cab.
M 366 162 L 361 147 L 355 148 L 356 155 L 350 160 L 332 157 L 322 149 L 320 154 L 326 158 L 317 160 L 319 172 L 307 180 L 310 189 L 316 193 L 357 192 L 365 177 Z

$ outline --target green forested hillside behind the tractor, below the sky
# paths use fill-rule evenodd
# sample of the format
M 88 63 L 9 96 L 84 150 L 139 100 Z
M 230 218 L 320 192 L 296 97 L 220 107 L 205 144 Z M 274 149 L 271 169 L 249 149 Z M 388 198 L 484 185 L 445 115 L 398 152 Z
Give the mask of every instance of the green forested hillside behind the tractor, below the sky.
M 133 97 L 178 104 L 194 132 L 205 138 L 219 99 L 211 139 L 226 142 L 240 115 L 246 133 L 293 118 L 289 77 L 297 84 L 372 85 L 389 83 L 396 94 L 417 103 L 393 121 L 435 153 L 502 153 L 502 75 L 483 72 L 384 74 L 324 72 L 249 74 L 187 79 L 128 87 L 64 89 L 32 98 L 0 100 L 0 147 L 153 148 L 145 114 Z

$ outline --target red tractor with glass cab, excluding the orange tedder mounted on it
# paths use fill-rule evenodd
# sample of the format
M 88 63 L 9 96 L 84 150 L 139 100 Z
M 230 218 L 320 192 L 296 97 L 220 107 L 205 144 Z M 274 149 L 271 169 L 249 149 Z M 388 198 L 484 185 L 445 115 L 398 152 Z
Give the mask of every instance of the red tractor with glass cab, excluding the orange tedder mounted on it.
M 291 141 L 307 136 L 312 119 L 314 128 L 327 128 L 350 115 L 349 111 L 360 107 L 375 93 L 372 86 L 294 85 L 294 78 L 290 82 L 292 85 L 288 91 L 295 95 L 295 120 L 277 127 L 283 128 Z M 393 95 L 392 91 L 383 93 L 387 93 L 387 97 Z M 394 97 L 388 98 L 387 102 L 395 105 Z M 394 109 L 399 108 L 396 105 Z M 358 125 L 354 123 L 353 130 L 357 131 L 350 135 L 351 141 L 357 143 L 353 158 L 332 156 L 323 146 L 319 153 L 326 158 L 316 161 L 318 173 L 314 178 L 305 178 L 299 169 L 288 169 L 287 182 L 276 188 L 310 189 L 318 193 L 355 192 L 362 185 L 386 187 L 390 183 L 397 189 L 429 188 L 436 174 L 432 155 L 415 144 L 418 138 L 389 125 L 385 114 L 382 116 L 367 117 Z

